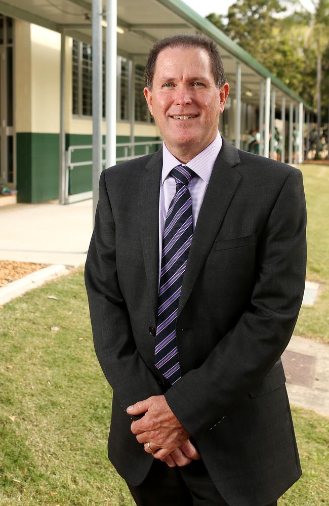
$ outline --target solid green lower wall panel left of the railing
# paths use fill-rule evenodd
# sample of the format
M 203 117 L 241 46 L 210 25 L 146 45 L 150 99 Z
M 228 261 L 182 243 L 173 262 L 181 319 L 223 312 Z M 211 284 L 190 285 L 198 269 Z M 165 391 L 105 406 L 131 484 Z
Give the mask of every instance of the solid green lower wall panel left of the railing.
M 59 135 L 16 134 L 17 201 L 58 198 Z

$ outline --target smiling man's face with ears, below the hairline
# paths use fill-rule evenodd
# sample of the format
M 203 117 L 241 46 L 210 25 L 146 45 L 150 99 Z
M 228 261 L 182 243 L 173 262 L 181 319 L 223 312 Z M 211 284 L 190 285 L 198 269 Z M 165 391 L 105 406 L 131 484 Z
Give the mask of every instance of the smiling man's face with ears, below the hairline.
M 208 53 L 184 47 L 159 53 L 152 91 L 144 89 L 168 149 L 191 157 L 215 139 L 228 92 L 227 83 L 216 87 Z

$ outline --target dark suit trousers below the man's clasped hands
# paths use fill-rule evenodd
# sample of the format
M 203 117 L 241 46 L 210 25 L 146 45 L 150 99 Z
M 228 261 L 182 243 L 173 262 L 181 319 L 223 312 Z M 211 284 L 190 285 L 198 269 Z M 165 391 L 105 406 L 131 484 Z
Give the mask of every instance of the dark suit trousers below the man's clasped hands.
M 170 468 L 165 462 L 154 459 L 140 485 L 127 485 L 137 506 L 229 506 L 202 460 L 192 460 L 182 468 Z M 276 504 L 275 501 L 268 506 Z

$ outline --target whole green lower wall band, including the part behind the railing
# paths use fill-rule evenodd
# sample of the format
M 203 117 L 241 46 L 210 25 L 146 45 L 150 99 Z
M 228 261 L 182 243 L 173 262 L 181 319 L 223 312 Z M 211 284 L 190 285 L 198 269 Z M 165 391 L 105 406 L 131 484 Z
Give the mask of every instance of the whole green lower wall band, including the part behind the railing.
M 59 184 L 59 135 L 18 133 L 17 137 L 17 201 L 44 202 L 58 198 Z M 135 137 L 135 142 L 158 140 L 158 137 Z M 128 136 L 117 136 L 116 142 L 129 142 Z M 66 134 L 66 149 L 69 146 L 91 145 L 91 135 Z M 105 144 L 105 136 L 103 137 Z M 155 152 L 158 146 L 150 146 Z M 135 154 L 144 154 L 145 147 L 137 146 Z M 117 148 L 116 156 L 124 156 L 124 148 Z M 105 151 L 103 152 L 105 158 Z M 89 161 L 92 150 L 75 150 L 71 161 Z M 92 189 L 92 164 L 77 166 L 70 171 L 69 193 L 81 193 Z

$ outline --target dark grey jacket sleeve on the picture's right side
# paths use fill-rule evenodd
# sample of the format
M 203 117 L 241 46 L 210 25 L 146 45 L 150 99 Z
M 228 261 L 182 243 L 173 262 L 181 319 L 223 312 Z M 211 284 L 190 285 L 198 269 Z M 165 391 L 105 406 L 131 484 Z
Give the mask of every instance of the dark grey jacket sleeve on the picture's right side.
M 174 414 L 194 437 L 261 382 L 289 343 L 305 286 L 305 228 L 302 174 L 293 169 L 263 230 L 249 307 L 203 364 L 166 393 Z

